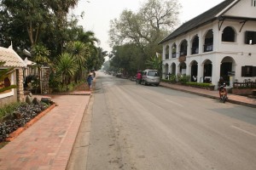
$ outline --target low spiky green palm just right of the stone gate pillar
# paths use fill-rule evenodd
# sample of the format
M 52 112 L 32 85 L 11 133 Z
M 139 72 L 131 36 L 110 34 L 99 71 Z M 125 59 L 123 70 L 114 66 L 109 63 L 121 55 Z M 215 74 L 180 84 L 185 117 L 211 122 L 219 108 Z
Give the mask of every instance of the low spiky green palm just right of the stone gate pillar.
M 57 74 L 61 75 L 63 85 L 67 85 L 78 69 L 79 65 L 77 65 L 73 59 L 72 54 L 63 53 L 58 56 L 56 62 L 56 71 Z

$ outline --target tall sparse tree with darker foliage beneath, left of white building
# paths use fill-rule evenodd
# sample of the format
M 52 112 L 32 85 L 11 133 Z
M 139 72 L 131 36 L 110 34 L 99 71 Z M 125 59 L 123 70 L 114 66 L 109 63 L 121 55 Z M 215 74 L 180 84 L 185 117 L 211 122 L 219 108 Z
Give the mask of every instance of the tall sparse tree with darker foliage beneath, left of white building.
M 119 19 L 111 20 L 109 39 L 113 52 L 109 54 L 112 58 L 110 69 L 125 69 L 124 65 L 129 65 L 131 71 L 146 68 L 146 61 L 162 50 L 158 42 L 177 24 L 179 7 L 177 0 L 148 0 L 137 13 L 125 9 Z M 130 53 L 124 50 L 129 46 L 133 46 Z

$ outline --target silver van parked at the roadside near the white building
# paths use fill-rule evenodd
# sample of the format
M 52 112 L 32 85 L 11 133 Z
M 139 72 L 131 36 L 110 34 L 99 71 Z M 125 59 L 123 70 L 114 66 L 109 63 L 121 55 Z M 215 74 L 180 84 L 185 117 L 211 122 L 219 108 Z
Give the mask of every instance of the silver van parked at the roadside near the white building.
M 142 84 L 152 84 L 155 86 L 158 86 L 160 84 L 160 75 L 158 71 L 146 69 L 145 71 L 143 71 L 142 75 Z

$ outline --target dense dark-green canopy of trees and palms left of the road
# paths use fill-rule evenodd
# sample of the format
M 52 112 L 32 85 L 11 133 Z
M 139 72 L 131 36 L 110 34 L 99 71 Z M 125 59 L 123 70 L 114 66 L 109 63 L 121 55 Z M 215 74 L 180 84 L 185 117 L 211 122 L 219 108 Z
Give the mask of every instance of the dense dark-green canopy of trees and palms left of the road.
M 69 13 L 78 2 L 0 0 L 0 45 L 9 47 L 12 43 L 22 59 L 49 65 L 54 75 L 51 78 L 62 84 L 83 80 L 86 71 L 101 68 L 108 52 L 96 47 L 99 40 L 94 32 L 84 31 L 78 16 Z M 25 56 L 23 49 L 31 56 Z

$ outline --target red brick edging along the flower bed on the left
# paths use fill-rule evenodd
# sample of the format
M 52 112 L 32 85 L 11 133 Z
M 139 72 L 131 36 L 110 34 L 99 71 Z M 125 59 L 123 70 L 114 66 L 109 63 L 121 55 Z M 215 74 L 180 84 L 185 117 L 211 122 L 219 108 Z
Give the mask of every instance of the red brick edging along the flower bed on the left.
M 9 134 L 9 138 L 5 139 L 5 141 L 10 142 L 10 141 L 14 140 L 17 136 L 20 135 L 20 133 L 24 132 L 26 130 L 26 128 L 31 127 L 32 124 L 34 124 L 35 122 L 38 122 L 38 120 L 42 116 L 46 115 L 49 111 L 51 111 L 53 108 L 55 108 L 55 106 L 56 106 L 56 104 L 50 105 L 49 108 L 47 108 L 46 110 L 39 113 L 38 116 L 35 116 L 30 122 L 26 122 L 24 127 L 17 128 L 13 133 Z

